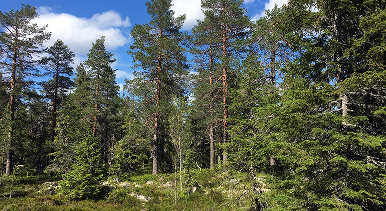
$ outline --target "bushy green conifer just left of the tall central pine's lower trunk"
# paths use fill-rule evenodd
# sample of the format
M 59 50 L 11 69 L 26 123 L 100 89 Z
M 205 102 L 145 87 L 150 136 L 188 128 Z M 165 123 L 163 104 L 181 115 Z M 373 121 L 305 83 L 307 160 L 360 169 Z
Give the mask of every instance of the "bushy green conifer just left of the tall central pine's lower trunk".
M 148 159 L 151 156 L 151 130 L 143 123 L 147 112 L 139 100 L 142 91 L 148 92 L 145 87 L 139 90 L 137 82 L 140 83 L 141 80 L 126 80 L 125 90 L 127 89 L 128 93 L 120 108 L 124 136 L 114 147 L 115 160 L 110 168 L 110 172 L 115 175 L 149 172 L 149 168 L 151 171 L 151 161 Z

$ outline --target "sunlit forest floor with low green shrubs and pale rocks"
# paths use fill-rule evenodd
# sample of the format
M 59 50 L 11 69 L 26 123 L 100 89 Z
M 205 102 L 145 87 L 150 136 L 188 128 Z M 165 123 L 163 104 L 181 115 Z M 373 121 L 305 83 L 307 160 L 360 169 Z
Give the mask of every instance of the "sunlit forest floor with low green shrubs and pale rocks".
M 110 178 L 98 200 L 57 193 L 61 177 L 11 176 L 0 193 L 2 210 L 253 210 L 256 191 L 247 174 L 215 170 Z

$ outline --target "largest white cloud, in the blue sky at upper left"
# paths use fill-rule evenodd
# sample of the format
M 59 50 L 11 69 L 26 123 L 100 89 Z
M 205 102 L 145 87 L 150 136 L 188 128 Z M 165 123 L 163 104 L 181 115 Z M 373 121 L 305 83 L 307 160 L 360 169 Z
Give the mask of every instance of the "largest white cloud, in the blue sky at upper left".
M 76 55 L 85 55 L 92 42 L 105 36 L 106 49 L 115 50 L 129 42 L 123 33 L 130 26 L 129 18 L 124 20 L 115 11 L 95 14 L 91 18 L 79 18 L 70 14 L 52 13 L 49 7 L 38 10 L 40 17 L 36 20 L 39 26 L 48 25 L 47 31 L 52 32 L 51 40 L 45 44 L 52 46 L 58 39 L 62 40 Z

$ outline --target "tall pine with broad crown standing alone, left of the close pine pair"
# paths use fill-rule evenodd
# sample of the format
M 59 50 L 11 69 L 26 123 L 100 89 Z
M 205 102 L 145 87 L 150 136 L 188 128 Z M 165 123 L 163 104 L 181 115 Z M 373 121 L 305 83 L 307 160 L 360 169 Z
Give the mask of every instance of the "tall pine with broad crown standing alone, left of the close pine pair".
M 151 21 L 144 25 L 135 25 L 131 31 L 134 39 L 129 54 L 134 58 L 135 67 L 143 70 L 136 76 L 143 81 L 141 86 L 151 90 L 151 95 L 143 103 L 152 108 L 147 119 L 153 122 L 153 174 L 158 173 L 159 146 L 164 144 L 167 132 L 167 107 L 171 96 L 183 93 L 183 75 L 186 74 L 185 51 L 181 44 L 185 35 L 179 32 L 184 16 L 174 18 L 170 10 L 171 0 L 154 0 L 146 3 Z M 147 121 L 146 121 L 147 122 Z

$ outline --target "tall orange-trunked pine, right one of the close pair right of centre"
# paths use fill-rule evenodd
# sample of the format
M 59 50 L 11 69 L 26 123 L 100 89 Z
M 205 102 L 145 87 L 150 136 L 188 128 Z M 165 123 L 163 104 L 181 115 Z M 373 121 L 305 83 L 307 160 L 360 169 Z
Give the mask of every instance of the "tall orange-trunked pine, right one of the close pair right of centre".
M 239 0 L 204 0 L 202 1 L 203 12 L 213 25 L 217 26 L 216 36 L 221 37 L 217 46 L 220 48 L 219 68 L 222 70 L 219 79 L 223 95 L 223 143 L 227 145 L 230 88 L 236 83 L 240 58 L 245 51 L 241 48 L 241 41 L 250 34 L 251 22 L 242 8 L 243 1 Z M 227 162 L 228 154 L 224 151 L 223 160 Z

